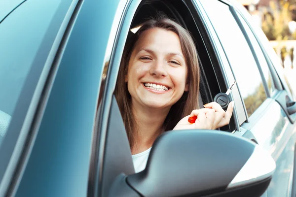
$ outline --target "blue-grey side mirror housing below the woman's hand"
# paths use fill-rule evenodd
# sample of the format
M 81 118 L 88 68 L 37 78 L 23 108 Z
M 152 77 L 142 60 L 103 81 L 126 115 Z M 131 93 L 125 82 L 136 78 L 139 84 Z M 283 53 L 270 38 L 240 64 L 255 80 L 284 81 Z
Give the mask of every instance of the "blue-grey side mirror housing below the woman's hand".
M 155 141 L 146 169 L 126 181 L 145 197 L 259 197 L 275 167 L 259 145 L 231 133 L 169 131 Z

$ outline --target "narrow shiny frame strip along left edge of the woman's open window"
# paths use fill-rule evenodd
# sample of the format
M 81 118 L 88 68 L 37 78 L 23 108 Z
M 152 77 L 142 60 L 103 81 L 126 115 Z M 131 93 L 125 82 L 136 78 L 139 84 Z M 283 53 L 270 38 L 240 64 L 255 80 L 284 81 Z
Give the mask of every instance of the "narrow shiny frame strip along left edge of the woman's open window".
M 138 6 L 142 3 L 143 0 L 120 0 L 114 16 L 111 27 L 111 32 L 114 33 L 109 37 L 105 53 L 102 82 L 99 90 L 97 118 L 95 120 L 94 129 L 96 134 L 93 136 L 93 148 L 91 150 L 90 165 L 93 167 L 89 172 L 89 180 L 92 180 L 92 185 L 88 185 L 89 196 L 100 196 L 100 194 L 103 193 L 102 173 L 104 168 L 104 155 L 107 147 L 106 139 L 109 132 L 108 124 L 113 92 L 115 90 L 121 57 L 130 25 Z

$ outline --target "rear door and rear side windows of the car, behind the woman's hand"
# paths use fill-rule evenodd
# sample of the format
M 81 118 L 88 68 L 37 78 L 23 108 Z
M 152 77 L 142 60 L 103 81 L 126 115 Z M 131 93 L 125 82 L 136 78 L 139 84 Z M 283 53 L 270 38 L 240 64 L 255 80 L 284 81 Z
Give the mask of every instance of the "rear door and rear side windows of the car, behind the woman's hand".
M 213 25 L 213 34 L 217 33 L 217 42 L 222 44 L 223 66 L 230 68 L 226 69 L 227 75 L 233 74 L 237 80 L 239 94 L 232 94 L 240 96 L 243 103 L 243 108 L 236 108 L 240 128 L 234 134 L 256 141 L 275 159 L 277 169 L 268 195 L 290 196 L 296 139 L 295 114 L 287 111 L 287 103 L 293 101 L 291 92 L 279 78 L 276 62 L 271 62 L 270 53 L 260 43 L 262 38 L 259 40 L 250 28 L 253 26 L 249 26 L 243 8 L 229 1 L 201 2 Z

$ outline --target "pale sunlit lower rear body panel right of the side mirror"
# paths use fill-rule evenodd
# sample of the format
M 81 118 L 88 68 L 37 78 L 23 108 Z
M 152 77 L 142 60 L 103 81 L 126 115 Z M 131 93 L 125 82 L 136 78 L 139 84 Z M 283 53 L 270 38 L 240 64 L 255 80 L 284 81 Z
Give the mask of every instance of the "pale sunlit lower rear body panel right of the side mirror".
M 296 127 L 290 123 L 275 100 L 272 100 L 261 112 L 258 117 L 250 118 L 250 123 L 256 118 L 253 127 L 249 127 L 250 123 L 244 123 L 242 128 L 252 131 L 258 144 L 268 150 L 276 162 L 277 168 L 267 192 L 275 197 L 290 196 Z

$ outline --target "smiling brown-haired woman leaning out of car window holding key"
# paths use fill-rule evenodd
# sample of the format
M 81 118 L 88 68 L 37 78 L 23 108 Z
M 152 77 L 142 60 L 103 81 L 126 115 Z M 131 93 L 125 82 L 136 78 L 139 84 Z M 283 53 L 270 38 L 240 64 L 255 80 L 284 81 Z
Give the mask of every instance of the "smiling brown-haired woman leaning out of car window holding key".
M 229 123 L 233 105 L 226 112 L 216 102 L 198 109 L 199 80 L 194 41 L 176 22 L 163 16 L 151 19 L 129 36 L 115 97 L 136 172 L 145 168 L 150 147 L 162 132 L 217 129 Z M 194 115 L 195 123 L 188 123 Z

